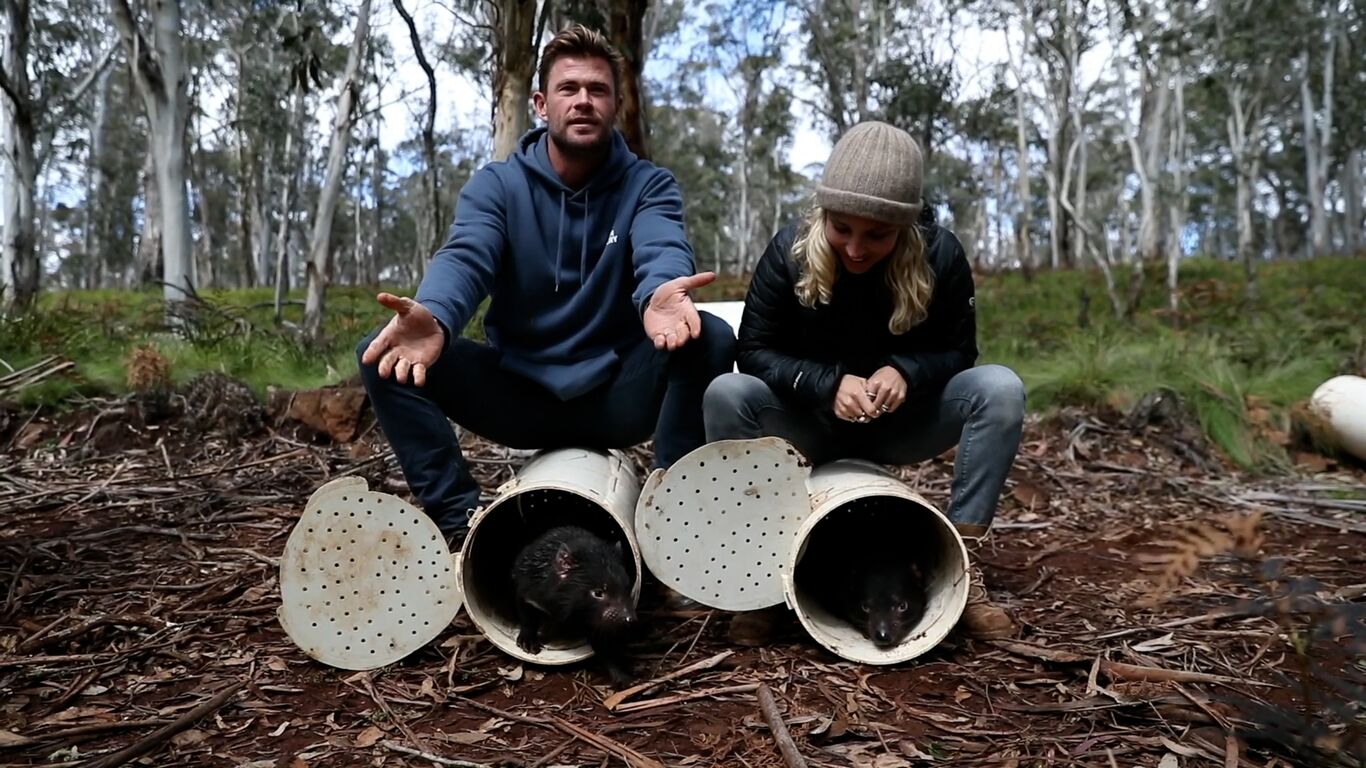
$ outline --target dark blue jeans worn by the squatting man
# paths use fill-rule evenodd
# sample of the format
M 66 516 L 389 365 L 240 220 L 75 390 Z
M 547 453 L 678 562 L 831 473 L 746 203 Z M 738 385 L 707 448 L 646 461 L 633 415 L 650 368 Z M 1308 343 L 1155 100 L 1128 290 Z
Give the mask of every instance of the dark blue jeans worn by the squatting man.
M 378 365 L 361 365 L 380 428 L 393 445 L 418 502 L 447 536 L 467 525 L 479 486 L 447 422 L 511 448 L 626 448 L 654 437 L 654 463 L 667 467 L 705 440 L 702 395 L 735 362 L 735 333 L 701 312 L 702 333 L 668 353 L 641 340 L 623 353 L 616 376 L 596 389 L 561 400 L 523 376 L 499 366 L 499 353 L 452 339 L 428 369 L 426 385 L 380 379 Z M 357 361 L 378 329 L 357 347 Z

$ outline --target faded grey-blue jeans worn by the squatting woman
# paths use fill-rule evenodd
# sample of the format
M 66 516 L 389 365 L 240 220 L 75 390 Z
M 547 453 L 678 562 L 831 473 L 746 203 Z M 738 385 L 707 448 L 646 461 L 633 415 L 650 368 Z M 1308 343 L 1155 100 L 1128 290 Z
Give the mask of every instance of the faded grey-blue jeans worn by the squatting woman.
M 783 437 L 813 463 L 861 458 L 887 465 L 932 459 L 953 445 L 953 486 L 948 518 L 988 526 L 1019 448 L 1024 385 L 1001 365 L 970 368 L 949 379 L 937 396 L 907 399 L 869 424 L 794 407 L 746 373 L 712 381 L 702 399 L 706 439 Z

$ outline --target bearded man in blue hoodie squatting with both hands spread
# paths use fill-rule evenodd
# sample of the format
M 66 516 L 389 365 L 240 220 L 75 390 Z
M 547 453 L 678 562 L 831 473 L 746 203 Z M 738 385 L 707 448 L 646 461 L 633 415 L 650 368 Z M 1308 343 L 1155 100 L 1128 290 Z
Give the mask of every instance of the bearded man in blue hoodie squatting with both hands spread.
M 705 441 L 702 394 L 731 370 L 735 335 L 698 312 L 672 174 L 615 128 L 622 56 L 574 26 L 541 55 L 535 113 L 505 161 L 460 191 L 417 301 L 357 348 L 408 486 L 452 547 L 479 486 L 449 417 L 519 448 L 627 447 L 654 436 L 656 465 Z M 488 344 L 460 336 L 492 295 Z

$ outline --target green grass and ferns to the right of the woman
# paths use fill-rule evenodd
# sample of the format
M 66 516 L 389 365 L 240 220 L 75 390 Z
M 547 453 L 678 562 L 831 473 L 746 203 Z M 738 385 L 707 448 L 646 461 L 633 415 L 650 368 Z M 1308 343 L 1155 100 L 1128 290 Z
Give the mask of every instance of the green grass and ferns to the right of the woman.
M 1100 276 L 1083 272 L 978 276 L 981 362 L 1015 369 L 1031 410 L 1063 404 L 1126 411 L 1169 388 L 1206 436 L 1244 467 L 1270 466 L 1283 452 L 1258 436 L 1250 400 L 1284 413 L 1337 374 L 1366 340 L 1359 323 L 1366 260 L 1318 258 L 1262 268 L 1262 302 L 1242 299 L 1238 265 L 1183 265 L 1180 327 L 1150 287 L 1131 321 L 1117 321 Z M 1079 327 L 1082 295 L 1090 297 Z

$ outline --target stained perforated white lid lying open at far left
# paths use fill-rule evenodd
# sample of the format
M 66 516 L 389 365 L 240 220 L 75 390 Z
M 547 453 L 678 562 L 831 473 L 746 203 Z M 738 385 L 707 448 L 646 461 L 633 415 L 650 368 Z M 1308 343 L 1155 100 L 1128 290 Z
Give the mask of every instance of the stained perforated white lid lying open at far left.
M 455 556 L 426 514 L 357 477 L 309 497 L 280 558 L 277 615 L 301 650 L 373 670 L 430 642 L 459 609 Z

